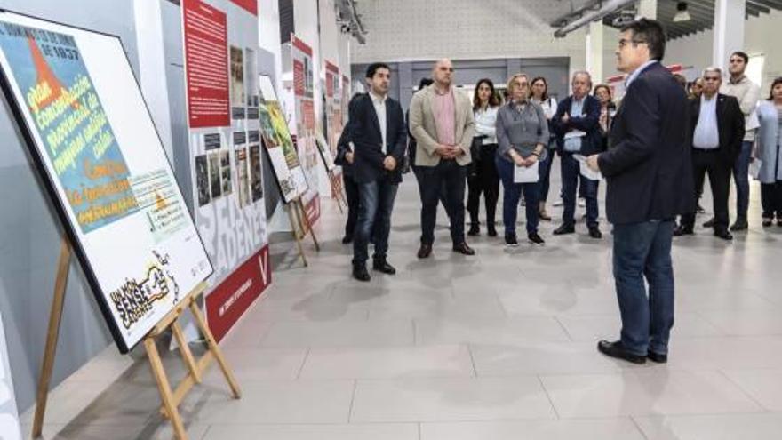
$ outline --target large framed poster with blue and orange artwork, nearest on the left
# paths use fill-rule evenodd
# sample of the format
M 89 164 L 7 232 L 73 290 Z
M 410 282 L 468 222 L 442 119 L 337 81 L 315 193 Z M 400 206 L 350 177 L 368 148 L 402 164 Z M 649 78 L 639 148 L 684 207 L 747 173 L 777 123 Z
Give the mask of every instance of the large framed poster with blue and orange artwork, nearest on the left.
M 0 68 L 5 99 L 125 353 L 212 267 L 123 45 L 0 12 Z

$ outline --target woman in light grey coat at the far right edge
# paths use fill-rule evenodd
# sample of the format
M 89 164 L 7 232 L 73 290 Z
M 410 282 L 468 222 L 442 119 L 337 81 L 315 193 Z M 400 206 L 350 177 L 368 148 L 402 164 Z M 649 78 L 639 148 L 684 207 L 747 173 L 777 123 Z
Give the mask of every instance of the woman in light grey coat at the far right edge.
M 771 83 L 769 100 L 761 102 L 757 110 L 761 126 L 758 132 L 758 158 L 761 169 L 761 204 L 763 223 L 771 226 L 774 216 L 782 226 L 782 76 Z

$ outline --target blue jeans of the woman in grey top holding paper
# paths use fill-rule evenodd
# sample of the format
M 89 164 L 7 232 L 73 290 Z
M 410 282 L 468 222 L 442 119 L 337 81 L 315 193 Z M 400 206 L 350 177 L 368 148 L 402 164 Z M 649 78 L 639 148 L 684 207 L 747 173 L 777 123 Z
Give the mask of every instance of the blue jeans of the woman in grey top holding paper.
M 502 196 L 502 222 L 505 223 L 505 233 L 516 233 L 516 215 L 519 209 L 519 199 L 524 192 L 524 205 L 527 214 L 527 234 L 538 232 L 538 197 L 540 194 L 540 183 L 515 183 L 514 168 L 515 164 L 498 156 L 494 158 L 497 164 L 499 179 L 502 180 L 502 188 L 505 194 Z

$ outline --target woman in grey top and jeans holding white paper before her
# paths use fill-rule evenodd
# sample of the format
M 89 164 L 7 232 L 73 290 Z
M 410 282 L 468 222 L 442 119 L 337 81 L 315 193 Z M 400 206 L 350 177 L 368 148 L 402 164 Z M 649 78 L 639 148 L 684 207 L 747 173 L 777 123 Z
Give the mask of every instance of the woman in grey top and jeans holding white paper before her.
M 538 234 L 538 202 L 540 183 L 538 161 L 545 160 L 548 144 L 548 121 L 543 108 L 528 99 L 530 80 L 524 74 L 511 76 L 507 82 L 508 102 L 497 112 L 497 172 L 505 188 L 502 201 L 502 221 L 505 223 L 505 243 L 517 246 L 516 210 L 519 198 L 524 193 L 527 201 L 527 238 L 532 244 L 544 244 Z M 534 168 L 532 173 L 524 174 L 522 168 Z M 516 174 L 520 174 L 517 179 Z M 518 180 L 525 180 L 518 182 Z

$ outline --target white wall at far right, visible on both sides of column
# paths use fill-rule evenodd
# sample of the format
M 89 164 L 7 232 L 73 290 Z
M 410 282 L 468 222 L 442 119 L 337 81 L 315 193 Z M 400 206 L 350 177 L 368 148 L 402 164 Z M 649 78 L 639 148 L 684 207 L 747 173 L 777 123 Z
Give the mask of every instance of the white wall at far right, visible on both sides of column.
M 744 46 L 750 56 L 763 54 L 766 58 L 761 84 L 762 96 L 769 91 L 771 81 L 782 76 L 782 12 L 772 11 L 746 20 Z M 695 36 L 686 36 L 668 42 L 666 64 L 681 63 L 700 71 L 712 64 L 714 32 L 707 30 Z M 725 66 L 722 66 L 725 68 Z

